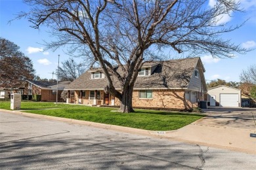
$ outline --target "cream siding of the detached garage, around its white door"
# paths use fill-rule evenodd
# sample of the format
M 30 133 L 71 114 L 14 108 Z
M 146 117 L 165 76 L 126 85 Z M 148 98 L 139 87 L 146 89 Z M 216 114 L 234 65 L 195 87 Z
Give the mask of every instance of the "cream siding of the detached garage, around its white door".
M 221 102 L 221 94 L 238 94 L 239 107 L 241 105 L 241 91 L 238 90 L 238 89 L 229 88 L 229 87 L 226 87 L 226 86 L 219 86 L 217 88 L 213 88 L 213 89 L 208 90 L 207 93 L 208 93 L 207 101 L 210 101 L 210 97 L 212 95 L 215 95 L 216 96 L 216 101 L 218 103 Z M 221 106 L 221 103 L 220 103 L 220 106 Z

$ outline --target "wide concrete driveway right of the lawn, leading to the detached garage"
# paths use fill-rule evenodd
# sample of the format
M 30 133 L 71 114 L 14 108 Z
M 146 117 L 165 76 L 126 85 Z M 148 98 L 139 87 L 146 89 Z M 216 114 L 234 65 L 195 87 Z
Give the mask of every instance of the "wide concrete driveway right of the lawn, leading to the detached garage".
M 216 108 L 207 116 L 167 133 L 168 137 L 256 154 L 256 109 Z

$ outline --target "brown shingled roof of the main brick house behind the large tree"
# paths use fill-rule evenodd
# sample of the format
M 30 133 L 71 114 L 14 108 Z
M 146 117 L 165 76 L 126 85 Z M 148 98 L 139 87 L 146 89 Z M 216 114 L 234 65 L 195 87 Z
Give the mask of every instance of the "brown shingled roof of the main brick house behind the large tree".
M 173 59 L 169 61 L 150 61 L 144 63 L 142 67 L 154 67 L 150 76 L 138 76 L 134 89 L 181 89 L 187 88 L 193 71 L 200 58 Z M 203 72 L 205 71 L 202 66 Z M 100 69 L 93 69 L 98 71 Z M 89 69 L 74 82 L 70 83 L 65 90 L 103 90 L 107 85 L 106 78 L 91 78 L 92 69 Z M 121 73 L 121 68 L 117 68 Z M 114 77 L 115 88 L 121 89 L 118 80 Z

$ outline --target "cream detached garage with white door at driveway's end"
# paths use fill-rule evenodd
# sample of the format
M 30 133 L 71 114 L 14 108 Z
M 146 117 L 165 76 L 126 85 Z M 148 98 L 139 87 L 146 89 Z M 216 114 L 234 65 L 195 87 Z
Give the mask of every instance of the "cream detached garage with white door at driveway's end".
M 241 90 L 228 86 L 217 86 L 208 89 L 207 101 L 209 106 L 241 107 Z

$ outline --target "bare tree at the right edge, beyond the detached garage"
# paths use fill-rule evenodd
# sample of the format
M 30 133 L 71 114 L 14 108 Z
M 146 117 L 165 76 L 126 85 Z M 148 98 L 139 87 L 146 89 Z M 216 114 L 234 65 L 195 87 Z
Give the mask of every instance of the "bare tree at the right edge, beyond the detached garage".
M 256 65 L 250 65 L 240 74 L 240 80 L 244 83 L 256 84 Z

